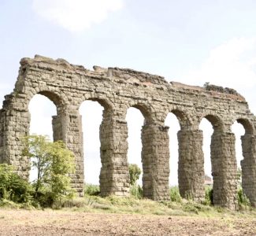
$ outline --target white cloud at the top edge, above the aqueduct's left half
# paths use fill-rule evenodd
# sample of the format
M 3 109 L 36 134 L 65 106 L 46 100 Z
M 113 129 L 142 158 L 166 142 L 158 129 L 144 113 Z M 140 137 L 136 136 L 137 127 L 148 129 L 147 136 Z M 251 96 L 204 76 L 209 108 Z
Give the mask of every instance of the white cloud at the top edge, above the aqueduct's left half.
M 124 6 L 124 0 L 33 0 L 39 16 L 69 31 L 83 31 L 106 20 L 109 12 Z

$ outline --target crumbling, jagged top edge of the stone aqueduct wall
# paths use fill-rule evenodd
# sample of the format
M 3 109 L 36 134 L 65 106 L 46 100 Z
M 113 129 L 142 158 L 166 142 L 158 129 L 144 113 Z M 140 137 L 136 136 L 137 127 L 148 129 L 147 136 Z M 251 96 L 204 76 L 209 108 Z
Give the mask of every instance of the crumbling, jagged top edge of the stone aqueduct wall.
M 43 57 L 40 55 L 35 55 L 34 58 L 24 57 L 20 60 L 21 67 L 26 65 L 37 66 L 46 70 L 55 70 L 55 71 L 65 71 L 71 73 L 82 73 L 88 76 L 105 76 L 110 78 L 122 79 L 124 81 L 136 83 L 151 83 L 157 85 L 163 85 L 166 87 L 175 87 L 178 89 L 185 90 L 195 90 L 197 92 L 202 92 L 206 94 L 211 94 L 213 96 L 220 96 L 225 98 L 232 98 L 239 101 L 246 101 L 242 95 L 236 92 L 236 90 L 230 88 L 224 88 L 216 85 L 206 83 L 204 87 L 191 86 L 179 82 L 170 82 L 168 83 L 164 77 L 151 75 L 147 72 L 139 72 L 130 68 L 102 68 L 99 66 L 94 66 L 94 71 L 88 70 L 83 67 L 83 65 L 72 65 L 65 59 L 52 59 L 50 57 Z

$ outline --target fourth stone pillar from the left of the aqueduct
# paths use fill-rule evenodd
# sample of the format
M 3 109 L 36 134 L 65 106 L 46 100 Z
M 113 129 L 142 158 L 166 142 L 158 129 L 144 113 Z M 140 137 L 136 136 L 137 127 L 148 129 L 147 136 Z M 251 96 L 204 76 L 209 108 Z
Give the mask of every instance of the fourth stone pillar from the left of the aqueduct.
M 142 129 L 143 195 L 169 200 L 169 127 L 147 124 Z

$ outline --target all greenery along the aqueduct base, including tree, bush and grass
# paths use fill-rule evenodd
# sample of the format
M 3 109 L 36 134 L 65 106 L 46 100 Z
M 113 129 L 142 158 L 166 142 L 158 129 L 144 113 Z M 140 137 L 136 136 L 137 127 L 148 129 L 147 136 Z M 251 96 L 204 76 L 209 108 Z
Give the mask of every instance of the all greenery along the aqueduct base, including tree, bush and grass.
M 97 185 L 85 185 L 84 197 L 74 197 L 70 187 L 68 173 L 73 170 L 73 156 L 62 142 L 50 143 L 46 138 L 30 136 L 26 139 L 24 155 L 34 158 L 32 164 L 41 168 L 40 178 L 28 183 L 15 173 L 8 164 L 0 164 L 0 207 L 7 208 L 72 208 L 86 212 L 139 213 L 167 216 L 214 216 L 216 214 L 235 214 L 213 205 L 213 189 L 206 186 L 206 199 L 202 204 L 180 197 L 178 186 L 169 190 L 170 201 L 150 201 L 143 198 L 143 189 L 136 181 L 139 168 L 132 165 L 130 172 L 130 197 L 99 197 Z M 32 145 L 32 146 L 30 146 Z M 39 151 L 43 146 L 43 151 Z M 36 148 L 35 148 L 36 147 Z M 43 153 L 43 157 L 42 157 Z M 41 155 L 41 156 L 40 156 Z M 41 159 L 40 159 L 40 158 Z M 38 158 L 38 159 L 36 159 Z M 41 164 L 44 163 L 43 166 Z M 132 176 L 132 178 L 131 178 Z M 239 214 L 246 212 L 256 216 L 256 209 L 250 207 L 250 201 L 239 186 Z

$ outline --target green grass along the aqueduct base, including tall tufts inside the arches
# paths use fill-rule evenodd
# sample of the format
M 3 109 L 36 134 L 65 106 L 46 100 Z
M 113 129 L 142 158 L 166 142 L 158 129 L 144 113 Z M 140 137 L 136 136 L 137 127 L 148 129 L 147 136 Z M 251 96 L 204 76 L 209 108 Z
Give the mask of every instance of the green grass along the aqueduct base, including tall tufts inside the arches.
M 133 186 L 130 197 L 99 197 L 99 188 L 95 185 L 87 185 L 84 190 L 84 197 L 75 197 L 63 203 L 62 209 L 65 211 L 77 212 L 106 212 L 121 214 L 142 214 L 158 216 L 238 216 L 256 217 L 256 209 L 247 205 L 247 198 L 243 193 L 239 193 L 243 205 L 239 211 L 233 212 L 224 208 L 217 208 L 211 204 L 212 190 L 206 188 L 206 201 L 202 204 L 192 200 L 185 200 L 180 197 L 177 186 L 170 188 L 170 201 L 151 201 L 143 198 L 140 186 Z M 8 200 L 0 200 L 0 207 L 6 208 L 33 208 L 29 204 L 17 204 Z

